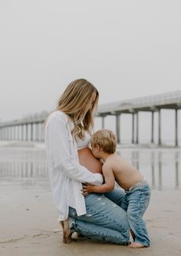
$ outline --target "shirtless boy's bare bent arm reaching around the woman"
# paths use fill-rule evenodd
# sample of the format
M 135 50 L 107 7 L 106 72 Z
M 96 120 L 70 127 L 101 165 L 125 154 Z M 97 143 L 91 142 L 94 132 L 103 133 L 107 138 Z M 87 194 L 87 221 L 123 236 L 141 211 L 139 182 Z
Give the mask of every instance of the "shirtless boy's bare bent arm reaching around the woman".
M 115 179 L 114 179 L 114 173 L 111 167 L 109 166 L 103 166 L 102 168 L 103 170 L 103 174 L 104 174 L 104 184 L 103 185 L 98 185 L 98 186 L 94 186 L 91 184 L 87 184 L 87 185 L 83 185 L 83 189 L 81 190 L 85 195 L 87 195 L 87 193 L 105 193 L 105 192 L 109 192 L 111 190 L 114 190 L 114 186 L 115 186 Z

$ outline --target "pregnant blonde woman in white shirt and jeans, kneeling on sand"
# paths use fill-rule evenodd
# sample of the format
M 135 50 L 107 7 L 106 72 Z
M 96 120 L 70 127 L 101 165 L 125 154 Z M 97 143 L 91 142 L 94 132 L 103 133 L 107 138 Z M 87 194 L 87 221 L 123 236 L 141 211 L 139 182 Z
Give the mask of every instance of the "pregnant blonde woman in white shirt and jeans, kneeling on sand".
M 129 224 L 125 211 L 119 207 L 123 191 L 117 188 L 102 195 L 81 194 L 82 183 L 102 184 L 103 181 L 101 164 L 88 149 L 98 96 L 91 83 L 77 79 L 67 86 L 58 100 L 57 110 L 48 116 L 44 140 L 51 188 L 64 242 L 71 241 L 66 221 L 69 216 L 71 233 L 76 231 L 99 241 L 127 244 Z

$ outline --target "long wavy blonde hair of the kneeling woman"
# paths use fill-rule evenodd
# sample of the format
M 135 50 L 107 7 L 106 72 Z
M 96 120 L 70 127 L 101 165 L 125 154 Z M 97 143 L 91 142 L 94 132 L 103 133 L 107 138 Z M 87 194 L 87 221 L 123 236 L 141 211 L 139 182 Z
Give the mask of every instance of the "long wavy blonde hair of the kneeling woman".
M 84 109 L 90 103 L 93 93 L 96 93 L 95 101 L 86 112 Z M 71 133 L 75 140 L 84 140 L 85 131 L 91 133 L 98 98 L 99 93 L 90 82 L 86 79 L 76 79 L 67 86 L 61 98 L 58 99 L 57 110 L 66 113 L 74 123 Z

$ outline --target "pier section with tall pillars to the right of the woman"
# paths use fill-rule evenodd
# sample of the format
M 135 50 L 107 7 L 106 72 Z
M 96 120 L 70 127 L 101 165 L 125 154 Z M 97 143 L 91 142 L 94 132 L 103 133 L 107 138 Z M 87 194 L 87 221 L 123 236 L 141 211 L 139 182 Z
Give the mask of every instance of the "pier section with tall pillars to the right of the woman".
M 136 99 L 128 99 L 115 103 L 107 103 L 99 106 L 97 116 L 102 119 L 102 128 L 106 116 L 115 116 L 117 143 L 120 143 L 120 117 L 127 113 L 132 116 L 132 143 L 139 144 L 139 113 L 151 113 L 150 143 L 154 143 L 154 113 L 158 113 L 158 145 L 162 144 L 161 118 L 162 109 L 173 109 L 175 111 L 175 146 L 178 146 L 178 111 L 181 109 L 181 91 L 146 96 Z M 135 137 L 136 133 L 136 137 Z

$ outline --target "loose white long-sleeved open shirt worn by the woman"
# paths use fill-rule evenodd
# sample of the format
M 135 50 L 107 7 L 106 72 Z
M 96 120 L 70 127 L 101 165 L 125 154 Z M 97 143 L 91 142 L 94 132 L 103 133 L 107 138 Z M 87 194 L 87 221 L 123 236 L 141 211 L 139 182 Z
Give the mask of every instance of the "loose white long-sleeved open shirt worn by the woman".
M 60 214 L 59 221 L 67 219 L 69 206 L 76 209 L 77 215 L 86 214 L 81 183 L 103 183 L 100 173 L 91 173 L 79 164 L 77 143 L 71 135 L 72 126 L 73 122 L 65 113 L 54 111 L 44 127 L 51 190 Z

